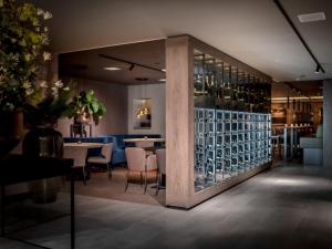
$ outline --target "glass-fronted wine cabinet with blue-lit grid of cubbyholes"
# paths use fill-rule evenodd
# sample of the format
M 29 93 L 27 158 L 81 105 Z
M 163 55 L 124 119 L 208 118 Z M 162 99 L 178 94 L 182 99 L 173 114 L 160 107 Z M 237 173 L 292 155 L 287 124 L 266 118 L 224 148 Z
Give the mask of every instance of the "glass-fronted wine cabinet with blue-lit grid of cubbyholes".
M 271 162 L 270 82 L 195 50 L 195 190 Z

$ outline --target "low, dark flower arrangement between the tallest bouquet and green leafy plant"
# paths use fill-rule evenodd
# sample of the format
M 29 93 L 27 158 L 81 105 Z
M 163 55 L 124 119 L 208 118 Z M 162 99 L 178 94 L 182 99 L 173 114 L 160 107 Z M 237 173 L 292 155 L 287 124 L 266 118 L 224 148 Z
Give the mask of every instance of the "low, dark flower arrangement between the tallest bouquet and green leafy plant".
M 74 95 L 74 82 L 63 83 L 61 80 L 37 83 L 24 105 L 25 123 L 32 126 L 53 126 L 60 117 L 69 116 L 69 103 Z

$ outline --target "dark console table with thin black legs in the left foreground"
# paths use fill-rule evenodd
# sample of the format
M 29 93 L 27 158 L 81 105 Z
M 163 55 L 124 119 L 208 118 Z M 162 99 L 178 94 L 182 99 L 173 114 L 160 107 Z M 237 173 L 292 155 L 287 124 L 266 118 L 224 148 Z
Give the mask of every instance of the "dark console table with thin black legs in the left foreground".
M 72 176 L 72 159 L 58 159 L 52 157 L 31 158 L 22 155 L 10 155 L 0 158 L 0 186 L 1 186 L 1 236 L 7 236 L 4 230 L 4 207 L 6 207 L 6 186 L 11 184 L 25 183 L 37 179 L 50 178 L 55 176 L 70 175 L 71 177 L 71 248 L 75 248 L 75 200 L 74 200 L 74 178 Z M 33 242 L 21 242 L 45 248 Z

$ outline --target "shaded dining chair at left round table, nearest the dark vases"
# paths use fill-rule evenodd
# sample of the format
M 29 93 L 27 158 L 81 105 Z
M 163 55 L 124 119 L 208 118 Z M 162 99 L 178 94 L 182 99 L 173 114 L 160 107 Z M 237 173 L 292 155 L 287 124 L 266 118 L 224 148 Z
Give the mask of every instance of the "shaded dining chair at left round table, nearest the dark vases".
M 82 168 L 83 174 L 83 184 L 86 186 L 86 156 L 87 156 L 87 148 L 83 147 L 74 147 L 74 146 L 64 146 L 63 147 L 63 158 L 72 158 L 74 164 L 72 168 Z

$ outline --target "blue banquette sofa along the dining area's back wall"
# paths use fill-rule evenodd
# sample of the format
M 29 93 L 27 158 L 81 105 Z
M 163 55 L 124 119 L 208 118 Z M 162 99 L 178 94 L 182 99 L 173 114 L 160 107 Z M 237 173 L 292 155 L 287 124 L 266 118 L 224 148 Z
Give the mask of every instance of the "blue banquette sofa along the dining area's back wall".
M 107 134 L 95 137 L 63 137 L 64 143 L 77 143 L 81 141 L 82 143 L 113 143 L 112 151 L 112 165 L 125 164 L 127 163 L 125 155 L 125 147 L 135 146 L 134 143 L 125 143 L 123 139 L 126 138 L 142 138 L 142 137 L 153 137 L 159 138 L 158 134 Z M 156 143 L 156 147 L 160 146 L 159 143 Z M 89 156 L 98 156 L 101 155 L 101 148 L 90 148 L 87 152 Z

